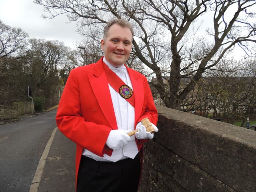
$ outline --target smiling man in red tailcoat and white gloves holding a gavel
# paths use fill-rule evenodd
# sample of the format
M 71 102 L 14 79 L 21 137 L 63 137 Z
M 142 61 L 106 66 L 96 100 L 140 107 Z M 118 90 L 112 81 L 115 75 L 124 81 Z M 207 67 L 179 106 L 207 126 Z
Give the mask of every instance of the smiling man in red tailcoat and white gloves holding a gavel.
M 73 69 L 63 91 L 56 122 L 77 144 L 76 189 L 135 192 L 142 169 L 142 144 L 153 138 L 140 122 L 148 117 L 155 131 L 157 110 L 147 79 L 127 68 L 133 40 L 128 21 L 104 28 L 104 57 Z M 133 136 L 131 130 L 138 129 Z

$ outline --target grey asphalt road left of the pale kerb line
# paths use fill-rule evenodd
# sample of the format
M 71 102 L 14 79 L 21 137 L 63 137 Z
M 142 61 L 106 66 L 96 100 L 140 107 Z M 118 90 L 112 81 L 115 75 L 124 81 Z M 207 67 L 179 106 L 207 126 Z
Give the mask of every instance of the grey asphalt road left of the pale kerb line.
M 0 125 L 0 191 L 28 192 L 56 127 L 56 110 Z

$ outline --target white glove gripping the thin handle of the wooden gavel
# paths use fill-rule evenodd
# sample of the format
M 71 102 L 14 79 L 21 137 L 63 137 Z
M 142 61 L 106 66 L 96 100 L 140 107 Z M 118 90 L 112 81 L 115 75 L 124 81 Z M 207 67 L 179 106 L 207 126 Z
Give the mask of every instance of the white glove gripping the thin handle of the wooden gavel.
M 106 145 L 113 150 L 122 148 L 124 145 L 127 145 L 128 141 L 131 139 L 131 137 L 127 135 L 129 132 L 131 132 L 131 130 L 111 130 L 108 135 Z

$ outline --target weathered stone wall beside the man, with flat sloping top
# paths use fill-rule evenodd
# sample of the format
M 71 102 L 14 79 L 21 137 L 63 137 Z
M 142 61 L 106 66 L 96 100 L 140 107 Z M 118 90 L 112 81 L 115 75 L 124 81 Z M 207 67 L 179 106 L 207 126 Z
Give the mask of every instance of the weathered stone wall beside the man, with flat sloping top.
M 157 106 L 140 192 L 255 192 L 256 131 Z

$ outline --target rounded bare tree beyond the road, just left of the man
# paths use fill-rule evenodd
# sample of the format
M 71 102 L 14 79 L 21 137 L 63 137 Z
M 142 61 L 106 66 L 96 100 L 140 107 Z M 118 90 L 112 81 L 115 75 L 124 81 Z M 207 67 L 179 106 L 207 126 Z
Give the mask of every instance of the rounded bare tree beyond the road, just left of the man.
M 59 83 L 60 72 L 73 65 L 72 51 L 57 40 L 30 39 L 29 42 L 31 49 L 23 58 L 25 73 L 30 75 L 33 96 L 38 96 L 41 89 L 48 98 L 51 87 Z

